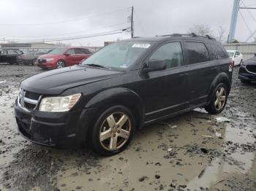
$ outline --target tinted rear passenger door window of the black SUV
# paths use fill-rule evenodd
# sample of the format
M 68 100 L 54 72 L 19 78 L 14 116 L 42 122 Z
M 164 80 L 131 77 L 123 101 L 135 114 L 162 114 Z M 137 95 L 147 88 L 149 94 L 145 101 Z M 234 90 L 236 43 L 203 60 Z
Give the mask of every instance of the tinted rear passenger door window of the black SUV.
M 203 63 L 209 60 L 206 45 L 201 42 L 186 42 L 189 64 Z

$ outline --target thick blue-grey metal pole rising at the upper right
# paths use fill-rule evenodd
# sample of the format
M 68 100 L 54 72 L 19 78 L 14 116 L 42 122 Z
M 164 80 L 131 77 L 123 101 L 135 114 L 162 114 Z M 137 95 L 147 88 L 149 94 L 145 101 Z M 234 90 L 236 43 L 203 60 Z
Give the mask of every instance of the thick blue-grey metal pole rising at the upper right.
M 235 38 L 239 4 L 240 4 L 240 0 L 234 0 L 233 12 L 232 12 L 231 23 L 230 23 L 230 34 L 228 35 L 228 39 L 227 39 L 227 42 L 229 43 L 233 42 Z

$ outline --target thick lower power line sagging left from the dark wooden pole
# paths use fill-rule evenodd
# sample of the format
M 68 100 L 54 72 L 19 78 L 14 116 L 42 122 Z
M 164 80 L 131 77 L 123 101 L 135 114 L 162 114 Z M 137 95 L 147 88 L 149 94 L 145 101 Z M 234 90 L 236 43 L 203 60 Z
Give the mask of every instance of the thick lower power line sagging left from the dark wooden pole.
M 100 33 L 100 34 L 89 34 L 86 36 L 71 36 L 71 37 L 67 37 L 67 38 L 59 38 L 59 39 L 44 39 L 44 42 L 56 42 L 56 41 L 65 41 L 65 40 L 73 40 L 73 39 L 87 39 L 87 38 L 91 38 L 91 37 L 96 37 L 96 36 L 107 36 L 110 34 L 120 34 L 123 33 L 124 31 L 127 31 L 127 28 L 124 29 L 119 29 L 119 30 L 115 30 L 115 31 L 108 31 L 105 33 Z M 11 41 L 11 42 L 42 42 L 37 40 L 20 40 L 20 39 L 5 39 L 6 41 Z

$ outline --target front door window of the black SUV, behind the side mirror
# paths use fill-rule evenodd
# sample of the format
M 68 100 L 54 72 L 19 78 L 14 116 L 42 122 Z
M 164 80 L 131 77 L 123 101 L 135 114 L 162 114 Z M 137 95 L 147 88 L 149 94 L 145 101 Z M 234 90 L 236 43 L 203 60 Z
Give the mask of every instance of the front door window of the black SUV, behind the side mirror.
M 159 47 L 149 58 L 149 61 L 165 61 L 166 68 L 174 68 L 183 64 L 180 42 L 170 42 Z

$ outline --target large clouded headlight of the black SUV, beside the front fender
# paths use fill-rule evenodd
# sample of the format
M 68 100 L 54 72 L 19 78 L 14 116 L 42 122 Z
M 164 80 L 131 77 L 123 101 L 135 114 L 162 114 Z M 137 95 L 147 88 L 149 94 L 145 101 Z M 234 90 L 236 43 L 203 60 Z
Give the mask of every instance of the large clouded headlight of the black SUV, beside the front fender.
M 81 94 L 67 95 L 62 97 L 42 98 L 39 111 L 42 112 L 67 112 L 78 102 Z

